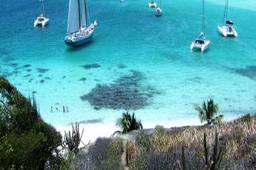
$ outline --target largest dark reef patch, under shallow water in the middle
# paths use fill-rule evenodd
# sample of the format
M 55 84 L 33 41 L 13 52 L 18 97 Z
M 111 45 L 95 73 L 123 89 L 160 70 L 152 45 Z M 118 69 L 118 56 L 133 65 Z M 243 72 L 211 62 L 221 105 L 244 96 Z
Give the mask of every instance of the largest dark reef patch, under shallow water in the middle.
M 94 109 L 142 109 L 150 104 L 149 99 L 159 94 L 152 86 L 143 86 L 145 76 L 131 70 L 131 75 L 124 75 L 113 84 L 97 84 L 82 101 L 88 101 Z

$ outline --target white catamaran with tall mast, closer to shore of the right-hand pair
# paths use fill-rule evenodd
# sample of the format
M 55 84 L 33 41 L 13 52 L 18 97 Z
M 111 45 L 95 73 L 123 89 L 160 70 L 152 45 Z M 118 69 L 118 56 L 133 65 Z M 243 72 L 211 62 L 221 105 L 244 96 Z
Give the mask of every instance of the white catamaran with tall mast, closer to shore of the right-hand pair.
M 206 39 L 205 36 L 205 4 L 204 4 L 204 0 L 203 0 L 203 15 L 202 15 L 202 30 L 200 33 L 199 38 L 195 39 L 191 46 L 190 49 L 193 50 L 194 48 L 200 49 L 202 52 L 204 52 L 208 47 L 209 44 L 211 43 L 211 41 L 209 41 L 208 39 Z

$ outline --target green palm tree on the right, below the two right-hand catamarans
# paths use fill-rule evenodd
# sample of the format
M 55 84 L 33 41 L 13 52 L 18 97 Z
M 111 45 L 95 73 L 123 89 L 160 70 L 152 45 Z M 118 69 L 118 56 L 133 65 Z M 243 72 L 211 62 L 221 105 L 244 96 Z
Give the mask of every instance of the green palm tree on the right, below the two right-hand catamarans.
M 223 118 L 223 115 L 217 115 L 217 112 L 219 110 L 219 107 L 217 103 L 215 104 L 214 101 L 210 98 L 210 101 L 203 102 L 202 106 L 195 106 L 197 112 L 199 112 L 199 118 L 201 122 L 207 121 L 208 125 L 211 125 L 212 123 L 220 123 L 220 121 Z M 217 115 L 214 117 L 214 115 Z

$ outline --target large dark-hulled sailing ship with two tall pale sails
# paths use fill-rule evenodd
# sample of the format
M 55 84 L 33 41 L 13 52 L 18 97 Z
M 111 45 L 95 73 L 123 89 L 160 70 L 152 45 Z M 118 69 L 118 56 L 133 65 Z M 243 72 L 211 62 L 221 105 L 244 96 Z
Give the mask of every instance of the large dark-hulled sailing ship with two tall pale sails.
M 91 41 L 97 23 L 91 24 L 86 0 L 70 0 L 65 43 L 77 47 Z

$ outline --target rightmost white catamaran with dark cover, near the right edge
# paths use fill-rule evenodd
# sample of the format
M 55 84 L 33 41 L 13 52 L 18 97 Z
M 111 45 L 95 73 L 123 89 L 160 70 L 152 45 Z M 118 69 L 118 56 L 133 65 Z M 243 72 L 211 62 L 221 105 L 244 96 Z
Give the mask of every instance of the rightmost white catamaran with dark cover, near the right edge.
M 229 12 L 229 0 L 226 0 L 226 6 L 224 11 L 224 17 L 223 17 L 223 25 L 218 26 L 217 28 L 220 34 L 225 37 L 228 35 L 237 37 L 237 31 L 234 29 L 234 22 L 228 19 L 228 12 Z

